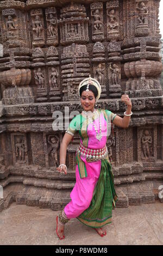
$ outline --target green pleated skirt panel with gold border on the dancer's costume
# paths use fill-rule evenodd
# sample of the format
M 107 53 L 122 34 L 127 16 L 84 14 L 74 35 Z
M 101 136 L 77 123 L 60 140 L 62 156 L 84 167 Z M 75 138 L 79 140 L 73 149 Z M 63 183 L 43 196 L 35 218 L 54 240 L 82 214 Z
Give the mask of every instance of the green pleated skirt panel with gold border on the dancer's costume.
M 101 172 L 90 206 L 77 217 L 78 220 L 92 228 L 100 228 L 111 223 L 112 209 L 115 209 L 117 199 L 111 164 L 108 160 L 102 160 Z

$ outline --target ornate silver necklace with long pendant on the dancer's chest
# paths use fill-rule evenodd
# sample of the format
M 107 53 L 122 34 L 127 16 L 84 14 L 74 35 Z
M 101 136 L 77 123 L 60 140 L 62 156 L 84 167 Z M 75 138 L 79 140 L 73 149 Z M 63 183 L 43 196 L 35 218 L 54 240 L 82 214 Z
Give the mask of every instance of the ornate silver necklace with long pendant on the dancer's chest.
M 98 113 L 98 111 L 96 109 L 94 109 L 93 112 L 91 111 L 83 111 L 84 114 L 86 115 L 86 118 L 88 119 L 88 122 L 89 124 L 92 123 L 93 127 L 95 128 L 95 131 L 96 131 L 96 138 L 98 139 L 98 141 L 101 141 L 102 139 L 102 135 L 101 135 L 101 118 L 100 118 L 100 114 Z M 94 120 L 95 118 L 99 118 L 99 133 L 97 131 L 97 128 L 95 126 L 95 124 L 93 124 L 93 118 L 94 117 Z

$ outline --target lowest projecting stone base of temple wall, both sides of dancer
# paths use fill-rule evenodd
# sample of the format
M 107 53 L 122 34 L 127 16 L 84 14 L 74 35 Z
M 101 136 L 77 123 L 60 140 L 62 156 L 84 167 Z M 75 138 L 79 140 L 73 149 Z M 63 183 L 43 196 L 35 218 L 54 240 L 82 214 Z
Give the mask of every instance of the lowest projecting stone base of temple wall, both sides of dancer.
M 117 208 L 128 208 L 129 205 L 141 205 L 143 203 L 154 203 L 160 200 L 158 187 L 161 181 L 142 182 L 128 184 L 127 186 L 115 186 L 118 196 Z M 29 206 L 39 206 L 60 210 L 70 202 L 70 189 L 52 189 L 24 185 L 22 183 L 9 184 L 4 187 L 4 198 L 0 200 L 0 211 L 7 209 L 12 202 Z M 162 202 L 162 200 L 160 200 Z

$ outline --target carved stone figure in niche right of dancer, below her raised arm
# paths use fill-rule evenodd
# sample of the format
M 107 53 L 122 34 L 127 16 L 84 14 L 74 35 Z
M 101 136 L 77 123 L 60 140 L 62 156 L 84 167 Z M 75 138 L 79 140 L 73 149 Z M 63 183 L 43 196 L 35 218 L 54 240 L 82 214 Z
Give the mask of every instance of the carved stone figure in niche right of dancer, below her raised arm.
M 152 143 L 152 136 L 149 135 L 148 130 L 143 131 L 141 143 L 142 143 L 143 155 L 145 156 L 145 159 L 148 159 L 149 156 L 152 155 L 152 148 L 151 150 L 149 150 L 149 145 Z

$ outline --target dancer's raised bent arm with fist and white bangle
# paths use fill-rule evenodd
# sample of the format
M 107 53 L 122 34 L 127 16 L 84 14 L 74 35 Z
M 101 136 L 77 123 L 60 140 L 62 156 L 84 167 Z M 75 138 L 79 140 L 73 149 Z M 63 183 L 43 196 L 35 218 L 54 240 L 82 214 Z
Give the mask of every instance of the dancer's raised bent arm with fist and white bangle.
M 127 105 L 126 114 L 130 114 L 132 109 L 132 102 L 129 99 L 129 96 L 127 94 L 123 94 L 121 96 L 121 100 Z M 127 117 L 126 115 L 124 115 L 124 117 L 121 118 L 119 115 L 116 115 L 112 123 L 115 124 L 116 126 L 127 128 L 130 123 L 130 118 L 131 116 Z

